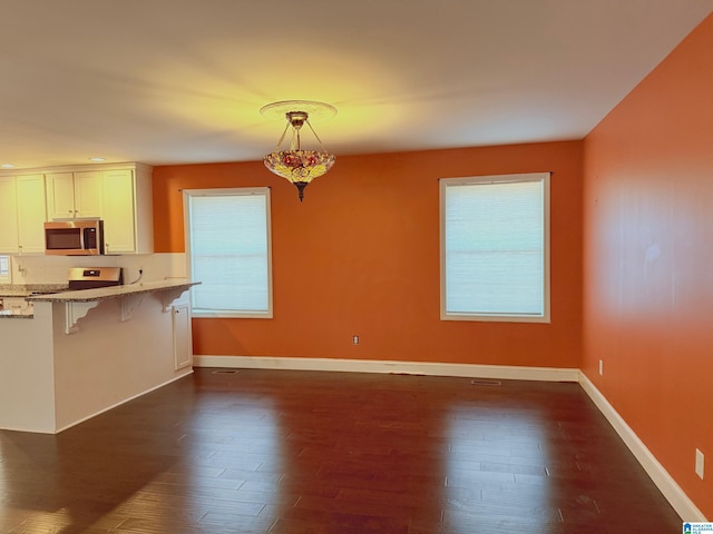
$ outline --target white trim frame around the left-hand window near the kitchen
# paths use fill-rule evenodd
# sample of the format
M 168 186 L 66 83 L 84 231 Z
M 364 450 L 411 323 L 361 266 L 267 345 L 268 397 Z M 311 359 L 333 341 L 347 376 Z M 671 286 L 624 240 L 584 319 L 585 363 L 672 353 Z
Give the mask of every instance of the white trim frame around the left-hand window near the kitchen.
M 266 216 L 266 231 L 267 231 L 267 310 L 265 312 L 232 312 L 232 310 L 204 310 L 204 309 L 193 309 L 192 304 L 192 313 L 193 317 L 204 317 L 204 318 L 221 318 L 221 317 L 233 317 L 233 318 L 263 318 L 263 319 L 272 319 L 273 318 L 273 288 L 272 288 L 272 216 L 271 216 L 271 200 L 270 200 L 270 188 L 268 187 L 240 187 L 240 188 L 215 188 L 215 189 L 184 189 L 183 190 L 183 214 L 184 214 L 184 236 L 185 236 L 185 247 L 186 247 L 186 271 L 188 274 L 188 279 L 193 279 L 192 274 L 192 254 L 191 254 L 191 197 L 198 196 L 207 196 L 207 197 L 217 197 L 217 196 L 236 196 L 236 195 L 265 195 L 265 216 Z M 201 281 L 201 280 L 196 280 Z M 195 289 L 191 289 L 191 294 L 193 296 L 193 291 Z M 192 298 L 193 301 L 193 298 Z

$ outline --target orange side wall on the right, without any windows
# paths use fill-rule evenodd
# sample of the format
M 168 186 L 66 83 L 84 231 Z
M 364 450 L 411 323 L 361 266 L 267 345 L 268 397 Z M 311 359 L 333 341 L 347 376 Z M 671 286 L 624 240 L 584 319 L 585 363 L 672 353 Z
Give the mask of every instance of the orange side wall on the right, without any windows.
M 586 137 L 584 165 L 583 369 L 709 518 L 712 52 L 710 16 Z

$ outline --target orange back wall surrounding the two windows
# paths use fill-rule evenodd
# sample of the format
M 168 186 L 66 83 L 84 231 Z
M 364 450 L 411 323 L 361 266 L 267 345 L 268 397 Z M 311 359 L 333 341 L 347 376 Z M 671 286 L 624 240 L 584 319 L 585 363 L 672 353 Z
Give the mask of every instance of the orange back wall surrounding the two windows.
M 194 319 L 197 355 L 579 366 L 582 141 L 340 156 L 305 189 L 262 161 L 154 169 L 156 251 L 180 189 L 272 188 L 273 319 Z M 441 322 L 438 179 L 553 171 L 551 324 Z M 352 345 L 352 335 L 360 344 Z

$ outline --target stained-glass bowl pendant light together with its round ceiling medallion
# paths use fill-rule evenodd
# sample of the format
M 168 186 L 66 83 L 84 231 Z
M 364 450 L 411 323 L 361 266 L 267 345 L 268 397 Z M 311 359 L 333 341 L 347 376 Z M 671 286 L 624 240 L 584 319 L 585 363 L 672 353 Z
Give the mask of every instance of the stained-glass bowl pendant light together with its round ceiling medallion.
M 300 201 L 304 198 L 304 188 L 316 177 L 328 172 L 336 157 L 329 154 L 322 145 L 319 136 L 310 123 L 310 118 L 325 119 L 336 115 L 336 108 L 324 102 L 314 102 L 311 100 L 283 100 L 280 102 L 268 103 L 263 107 L 260 112 L 265 117 L 286 118 L 282 137 L 277 141 L 275 149 L 263 158 L 265 167 L 277 176 L 282 176 L 290 180 L 297 188 Z M 320 144 L 321 151 L 303 150 L 301 130 L 307 125 L 312 135 Z M 292 140 L 287 150 L 281 150 L 281 145 L 287 135 L 287 130 L 292 127 Z

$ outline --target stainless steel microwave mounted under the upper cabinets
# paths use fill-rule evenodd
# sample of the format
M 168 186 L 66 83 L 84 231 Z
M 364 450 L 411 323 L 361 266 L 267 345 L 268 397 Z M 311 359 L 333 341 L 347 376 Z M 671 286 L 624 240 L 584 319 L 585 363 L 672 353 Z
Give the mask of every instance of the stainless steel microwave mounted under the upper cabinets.
M 76 219 L 45 222 L 45 254 L 55 256 L 104 254 L 104 221 Z

